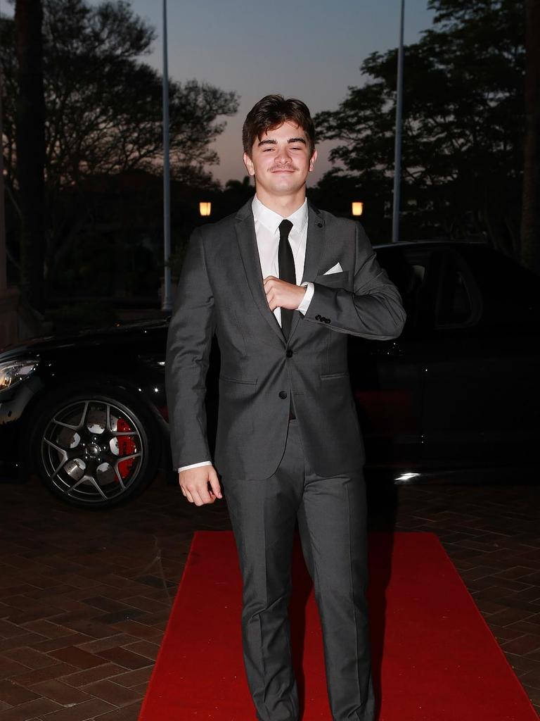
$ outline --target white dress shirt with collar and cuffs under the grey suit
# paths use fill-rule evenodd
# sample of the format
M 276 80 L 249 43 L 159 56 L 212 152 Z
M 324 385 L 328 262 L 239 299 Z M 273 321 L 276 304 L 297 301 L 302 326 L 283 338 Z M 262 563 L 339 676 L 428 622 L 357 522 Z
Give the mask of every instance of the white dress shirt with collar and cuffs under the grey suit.
M 277 260 L 279 249 L 279 224 L 284 220 L 279 213 L 266 208 L 256 195 L 253 196 L 251 202 L 253 210 L 253 218 L 255 219 L 255 235 L 257 239 L 258 257 L 261 260 L 262 277 L 267 278 L 269 275 L 275 275 L 279 278 L 279 264 Z M 307 200 L 304 200 L 300 208 L 298 208 L 287 220 L 291 221 L 292 228 L 289 232 L 289 244 L 294 257 L 294 270 L 296 271 L 297 286 L 300 286 L 302 275 L 304 274 L 305 247 L 307 242 Z M 261 281 L 262 282 L 262 281 Z M 302 302 L 295 309 L 305 314 L 310 306 L 311 299 L 315 288 L 313 283 L 302 283 L 306 291 Z M 279 325 L 282 324 L 282 309 L 274 309 L 274 315 Z M 199 466 L 211 466 L 211 461 L 202 461 L 201 463 L 193 463 L 189 466 L 182 466 L 180 471 L 186 471 L 188 468 L 198 468 Z

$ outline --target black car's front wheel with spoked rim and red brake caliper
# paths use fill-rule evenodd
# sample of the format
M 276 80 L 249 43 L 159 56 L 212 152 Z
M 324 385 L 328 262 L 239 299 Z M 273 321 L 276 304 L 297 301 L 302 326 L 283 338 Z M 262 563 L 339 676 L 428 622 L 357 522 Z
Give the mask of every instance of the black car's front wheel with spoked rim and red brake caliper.
M 150 412 L 110 389 L 42 403 L 32 445 L 45 485 L 66 503 L 84 508 L 131 499 L 153 479 L 158 464 Z

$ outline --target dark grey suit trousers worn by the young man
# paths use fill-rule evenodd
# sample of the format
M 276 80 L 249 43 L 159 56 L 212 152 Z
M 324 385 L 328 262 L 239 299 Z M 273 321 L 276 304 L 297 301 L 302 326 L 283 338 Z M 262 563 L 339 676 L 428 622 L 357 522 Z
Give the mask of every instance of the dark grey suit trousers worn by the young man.
M 296 521 L 315 588 L 333 721 L 372 721 L 366 605 L 366 493 L 361 471 L 320 477 L 289 420 L 282 461 L 262 480 L 223 478 L 243 578 L 246 676 L 259 721 L 297 721 L 288 605 Z

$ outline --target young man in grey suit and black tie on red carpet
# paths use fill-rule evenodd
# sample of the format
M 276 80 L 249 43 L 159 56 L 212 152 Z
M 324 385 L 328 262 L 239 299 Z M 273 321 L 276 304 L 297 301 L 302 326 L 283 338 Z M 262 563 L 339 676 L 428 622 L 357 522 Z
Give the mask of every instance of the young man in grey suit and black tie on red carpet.
M 334 721 L 372 721 L 364 449 L 347 334 L 387 339 L 399 293 L 359 224 L 306 200 L 317 159 L 310 112 L 268 95 L 248 113 L 256 195 L 194 231 L 168 334 L 173 459 L 184 496 L 221 498 L 243 575 L 243 653 L 260 721 L 297 721 L 287 604 L 295 522 L 315 585 Z M 204 379 L 220 345 L 215 467 Z M 247 716 L 246 716 L 247 717 Z

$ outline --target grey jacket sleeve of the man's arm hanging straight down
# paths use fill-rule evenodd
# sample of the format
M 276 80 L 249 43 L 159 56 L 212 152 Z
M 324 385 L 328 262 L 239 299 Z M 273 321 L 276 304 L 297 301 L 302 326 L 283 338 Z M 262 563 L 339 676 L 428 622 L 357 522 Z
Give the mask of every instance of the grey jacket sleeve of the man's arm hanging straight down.
M 211 458 L 204 397 L 214 332 L 214 296 L 202 233 L 196 229 L 189 239 L 167 336 L 165 383 L 174 468 Z

